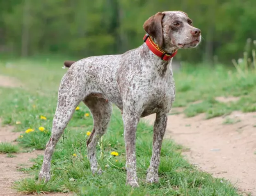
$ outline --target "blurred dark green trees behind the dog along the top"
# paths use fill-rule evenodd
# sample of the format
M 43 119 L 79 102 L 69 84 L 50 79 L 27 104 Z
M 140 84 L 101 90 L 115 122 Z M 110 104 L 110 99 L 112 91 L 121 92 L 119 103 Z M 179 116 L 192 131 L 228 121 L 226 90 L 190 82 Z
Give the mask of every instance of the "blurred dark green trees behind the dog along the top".
M 231 64 L 256 39 L 256 0 L 0 0 L 0 53 L 85 58 L 142 44 L 146 19 L 182 10 L 202 31 L 176 60 Z M 70 59 L 71 60 L 71 59 Z

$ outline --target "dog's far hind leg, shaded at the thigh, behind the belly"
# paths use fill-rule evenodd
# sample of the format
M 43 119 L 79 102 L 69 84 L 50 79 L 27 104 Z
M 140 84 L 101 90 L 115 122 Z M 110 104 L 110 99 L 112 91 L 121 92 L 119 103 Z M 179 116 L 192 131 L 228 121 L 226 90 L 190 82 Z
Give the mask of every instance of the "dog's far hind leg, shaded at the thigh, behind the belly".
M 92 173 L 95 174 L 98 172 L 98 174 L 101 174 L 102 170 L 98 169 L 98 162 L 96 159 L 96 145 L 98 139 L 101 138 L 107 130 L 112 113 L 112 103 L 109 101 L 106 102 L 103 98 L 90 96 L 84 100 L 84 103 L 90 109 L 94 120 L 94 128 L 87 140 L 88 159 L 90 161 Z

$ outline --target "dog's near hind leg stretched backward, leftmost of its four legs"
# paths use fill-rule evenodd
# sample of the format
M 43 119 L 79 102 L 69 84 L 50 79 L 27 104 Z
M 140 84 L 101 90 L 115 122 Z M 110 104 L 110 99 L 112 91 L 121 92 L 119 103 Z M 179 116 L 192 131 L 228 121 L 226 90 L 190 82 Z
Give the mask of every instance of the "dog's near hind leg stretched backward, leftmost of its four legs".
M 39 180 L 44 179 L 45 182 L 50 180 L 50 162 L 53 151 L 69 120 L 73 116 L 75 108 L 85 97 L 85 89 L 83 87 L 83 83 L 77 81 L 77 77 L 74 77 L 70 72 L 67 72 L 62 78 L 59 87 L 57 108 L 53 118 L 52 133 L 50 140 L 46 144 Z

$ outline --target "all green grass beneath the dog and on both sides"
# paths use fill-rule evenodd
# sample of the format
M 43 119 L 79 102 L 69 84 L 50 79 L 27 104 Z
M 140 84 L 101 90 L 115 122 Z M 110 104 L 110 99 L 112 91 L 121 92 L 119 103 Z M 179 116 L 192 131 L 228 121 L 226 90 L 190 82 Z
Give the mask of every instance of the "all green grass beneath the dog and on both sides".
M 51 124 L 57 104 L 60 79 L 66 70 L 61 69 L 62 61 L 13 60 L 11 67 L 0 63 L 0 72 L 21 80 L 25 89 L 0 88 L 0 117 L 4 124 L 14 125 L 21 131 L 19 144 L 28 149 L 44 149 L 50 137 Z M 246 77 L 236 70 L 216 67 L 184 65 L 180 73 L 175 73 L 176 101 L 174 107 L 185 107 L 184 113 L 192 117 L 205 113 L 206 118 L 229 114 L 234 110 L 256 111 L 256 77 L 254 72 Z M 237 102 L 219 102 L 217 96 L 239 96 Z M 195 101 L 198 101 L 194 103 Z M 89 115 L 86 115 L 89 114 Z M 41 118 L 45 116 L 46 118 Z M 21 122 L 16 125 L 16 122 Z M 80 104 L 73 118 L 57 143 L 51 162 L 51 180 L 38 181 L 43 156 L 34 159 L 34 165 L 23 171 L 34 174 L 34 178 L 18 180 L 14 188 L 27 194 L 47 192 L 74 192 L 83 195 L 177 195 L 177 196 L 238 196 L 238 192 L 228 181 L 213 178 L 206 172 L 190 165 L 183 156 L 183 148 L 172 140 L 162 145 L 159 167 L 160 183 L 145 183 L 152 151 L 152 126 L 139 122 L 136 136 L 137 174 L 140 187 L 132 189 L 125 185 L 125 145 L 121 114 L 114 109 L 110 126 L 97 146 L 97 157 L 103 175 L 92 175 L 87 159 L 87 131 L 93 126 L 88 108 Z M 190 125 L 186 125 L 190 126 Z M 43 127 L 42 130 L 39 127 Z M 26 130 L 27 133 L 25 132 Z M 111 155 L 117 151 L 119 156 Z

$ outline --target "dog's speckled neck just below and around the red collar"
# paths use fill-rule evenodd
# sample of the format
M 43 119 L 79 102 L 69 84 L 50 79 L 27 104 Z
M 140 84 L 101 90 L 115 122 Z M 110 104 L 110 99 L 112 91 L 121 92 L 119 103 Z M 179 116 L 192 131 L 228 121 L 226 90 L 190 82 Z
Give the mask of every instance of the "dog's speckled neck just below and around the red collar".
M 162 60 L 159 56 L 156 56 L 144 43 L 143 45 L 140 46 L 141 48 L 141 58 L 144 58 L 146 61 L 149 62 L 149 64 L 153 67 L 155 67 L 156 71 L 158 74 L 162 77 L 164 77 L 166 74 L 171 73 L 172 75 L 172 67 L 171 67 L 171 62 L 172 59 L 170 60 Z

